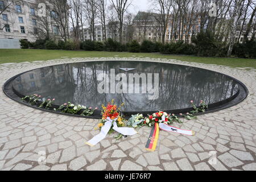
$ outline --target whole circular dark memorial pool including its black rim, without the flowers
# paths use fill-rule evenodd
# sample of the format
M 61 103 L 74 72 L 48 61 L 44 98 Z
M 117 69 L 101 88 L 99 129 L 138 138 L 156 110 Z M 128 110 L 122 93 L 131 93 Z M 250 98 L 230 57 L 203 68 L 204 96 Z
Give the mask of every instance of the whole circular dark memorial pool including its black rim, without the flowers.
M 148 61 L 88 61 L 53 65 L 10 78 L 4 92 L 22 104 L 20 98 L 39 94 L 55 98 L 55 105 L 67 102 L 101 108 L 114 100 L 126 116 L 191 111 L 203 100 L 209 111 L 238 104 L 248 90 L 242 82 L 222 73 L 185 65 Z M 100 111 L 94 117 L 99 117 Z

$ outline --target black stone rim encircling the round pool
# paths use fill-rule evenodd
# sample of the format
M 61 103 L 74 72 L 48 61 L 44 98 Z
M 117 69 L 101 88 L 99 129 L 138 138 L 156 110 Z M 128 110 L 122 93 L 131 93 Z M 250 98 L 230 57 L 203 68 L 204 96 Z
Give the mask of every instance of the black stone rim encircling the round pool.
M 73 63 L 84 63 L 84 62 L 94 62 L 94 61 L 98 61 L 98 62 L 104 62 L 104 61 L 141 61 L 141 62 L 149 62 L 149 63 L 173 64 L 173 63 L 166 63 L 166 62 L 162 62 L 162 61 L 156 62 L 156 61 L 151 61 L 151 60 L 145 60 L 145 61 L 143 61 L 143 60 L 89 60 L 89 61 L 77 61 L 77 62 L 73 62 Z M 55 64 L 55 65 L 73 64 L 73 63 L 61 63 L 61 64 Z M 47 68 L 47 67 L 51 67 L 51 66 L 55 66 L 55 65 L 48 65 L 46 67 L 40 67 L 40 68 Z M 191 66 L 182 65 L 182 64 L 175 64 L 175 65 L 181 65 L 181 66 L 184 66 L 184 67 L 191 67 Z M 40 68 L 36 68 L 36 69 L 40 69 Z M 198 68 L 198 67 L 192 67 L 192 68 Z M 22 102 L 21 100 L 15 99 L 14 97 L 11 97 L 10 94 L 8 93 L 8 91 L 6 90 L 6 86 L 8 86 L 8 84 L 10 84 L 11 81 L 15 80 L 16 77 L 18 77 L 20 75 L 23 75 L 24 73 L 27 73 L 27 72 L 35 71 L 36 69 L 31 69 L 30 71 L 19 73 L 18 75 L 9 78 L 9 80 L 7 80 L 5 82 L 5 84 L 3 84 L 3 86 L 2 86 L 2 90 L 6 94 L 6 96 L 11 98 L 11 100 L 14 100 L 14 101 L 18 102 L 19 104 L 23 104 L 23 105 L 26 105 L 28 107 L 32 107 L 34 109 L 46 111 L 48 113 L 67 115 L 67 116 L 71 116 L 71 117 L 101 119 L 100 111 L 98 111 L 98 110 L 96 110 L 96 112 L 95 112 L 96 114 L 93 115 L 93 116 L 90 116 L 90 117 L 89 116 L 81 116 L 81 115 L 77 115 L 77 114 L 68 114 L 68 113 L 57 112 L 57 111 L 54 111 L 54 110 L 42 109 L 40 107 L 32 106 L 30 104 L 27 104 L 26 102 Z M 210 71 L 210 72 L 218 73 L 218 74 L 224 75 L 226 77 L 232 78 L 233 80 L 238 82 L 240 88 L 239 88 L 238 92 L 236 94 L 234 94 L 234 96 L 232 96 L 232 97 L 230 97 L 226 100 L 216 102 L 214 104 L 210 104 L 210 105 L 208 105 L 209 108 L 204 113 L 197 113 L 195 115 L 208 114 L 208 113 L 213 113 L 213 112 L 220 111 L 220 110 L 223 110 L 223 109 L 227 109 L 229 107 L 232 107 L 232 106 L 235 106 L 235 105 L 239 104 L 240 102 L 242 102 L 243 100 L 245 100 L 247 98 L 247 96 L 249 94 L 249 90 L 247 89 L 246 85 L 243 84 L 243 82 L 241 82 L 240 80 L 237 80 L 236 78 L 231 77 L 229 75 L 225 75 L 224 73 L 212 71 L 212 70 L 209 70 L 209 69 L 205 69 L 205 68 L 198 68 L 198 69 L 204 69 L 204 70 L 207 70 L 207 71 Z M 12 90 L 14 92 L 14 89 L 12 89 Z M 58 107 L 58 105 L 53 105 L 53 106 Z M 186 108 L 186 109 L 166 110 L 166 112 L 167 113 L 172 113 L 172 114 L 179 114 L 179 113 L 185 114 L 185 113 L 187 113 L 191 110 L 193 110 L 192 107 L 191 108 Z M 158 112 L 158 111 L 141 111 L 139 113 L 143 114 L 143 115 L 147 115 L 147 114 L 152 114 L 152 113 L 155 113 L 155 112 Z M 125 118 L 129 118 L 130 115 L 138 114 L 138 112 L 135 112 L 135 111 L 134 112 L 123 112 L 122 114 L 124 114 Z M 181 117 L 181 116 L 177 115 L 177 117 Z

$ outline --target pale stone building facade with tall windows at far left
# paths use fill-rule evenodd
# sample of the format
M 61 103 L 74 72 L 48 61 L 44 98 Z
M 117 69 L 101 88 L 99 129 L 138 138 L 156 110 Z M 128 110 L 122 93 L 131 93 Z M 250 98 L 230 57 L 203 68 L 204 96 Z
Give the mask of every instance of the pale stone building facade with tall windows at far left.
M 44 7 L 49 9 L 51 4 L 40 0 L 0 0 L 0 39 L 26 39 L 34 42 L 38 39 L 40 31 L 43 31 L 43 26 L 48 27 L 49 34 L 58 37 L 60 28 L 52 16 L 46 14 L 45 24 L 42 23 L 40 14 Z M 47 11 L 54 15 L 53 11 Z

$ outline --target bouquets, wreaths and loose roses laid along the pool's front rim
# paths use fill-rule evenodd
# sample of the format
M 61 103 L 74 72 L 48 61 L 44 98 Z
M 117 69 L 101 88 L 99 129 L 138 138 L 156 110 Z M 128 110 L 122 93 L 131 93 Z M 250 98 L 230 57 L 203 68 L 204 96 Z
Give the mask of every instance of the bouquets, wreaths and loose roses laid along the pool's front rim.
M 95 110 L 98 110 L 96 107 L 92 109 L 92 107 L 86 107 L 82 105 L 75 105 L 71 102 L 67 102 L 58 109 L 52 107 L 55 99 L 43 99 L 42 96 L 38 94 L 34 94 L 32 96 L 26 96 L 22 98 L 23 101 L 26 101 L 28 104 L 31 105 L 38 105 L 40 108 L 43 109 L 53 109 L 55 111 L 59 111 L 61 113 L 68 113 L 68 114 L 79 114 L 81 116 L 92 116 Z M 40 101 L 40 102 L 39 102 Z M 41 103 L 39 105 L 39 103 Z M 144 116 L 143 114 L 136 114 L 132 115 L 131 118 L 126 120 L 123 115 L 121 114 L 121 106 L 114 105 L 114 100 L 109 103 L 107 106 L 102 105 L 102 119 L 100 119 L 100 123 L 98 123 L 97 129 L 100 129 L 105 125 L 105 122 L 108 121 L 108 118 L 112 119 L 114 122 L 117 123 L 118 127 L 142 127 L 142 126 L 154 126 L 155 122 L 158 123 L 165 123 L 166 125 L 170 125 L 174 122 L 182 123 L 181 119 L 177 117 L 175 114 L 168 114 L 164 111 L 159 111 L 158 113 L 154 113 L 152 115 Z M 191 101 L 191 105 L 193 110 L 186 114 L 179 114 L 180 117 L 184 117 L 186 119 L 196 119 L 197 117 L 194 114 L 205 112 L 208 109 L 208 105 L 204 101 L 200 101 L 200 105 L 196 106 L 193 101 Z M 113 125 L 112 128 L 109 130 L 109 134 L 113 133 Z M 116 138 L 121 138 L 122 135 L 118 135 Z

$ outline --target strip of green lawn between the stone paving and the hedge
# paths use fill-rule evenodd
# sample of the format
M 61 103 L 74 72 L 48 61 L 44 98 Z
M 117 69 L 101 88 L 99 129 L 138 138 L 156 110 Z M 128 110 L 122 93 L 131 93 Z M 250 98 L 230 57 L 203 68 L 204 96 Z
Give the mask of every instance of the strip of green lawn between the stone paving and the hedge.
M 61 59 L 61 57 L 131 57 L 143 56 L 152 58 L 176 59 L 181 61 L 227 65 L 229 67 L 256 68 L 256 59 L 240 59 L 226 57 L 198 57 L 184 55 L 162 55 L 160 53 L 130 53 L 130 52 L 97 52 L 97 51 L 62 51 L 41 49 L 0 49 L 0 64 L 18 63 L 23 61 L 40 61 Z

